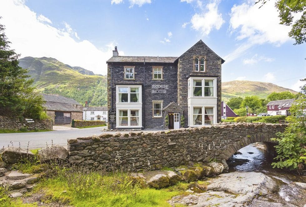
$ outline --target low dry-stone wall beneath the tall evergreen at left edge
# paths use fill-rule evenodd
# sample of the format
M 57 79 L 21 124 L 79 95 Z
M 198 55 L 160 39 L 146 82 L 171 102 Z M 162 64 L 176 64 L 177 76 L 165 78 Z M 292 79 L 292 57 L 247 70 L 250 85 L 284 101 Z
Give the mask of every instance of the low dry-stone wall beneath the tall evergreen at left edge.
M 52 129 L 52 120 L 34 120 L 34 122 L 28 123 L 25 119 L 19 120 L 17 118 L 0 116 L 0 129 L 21 129 L 26 127 L 28 130 L 43 130 Z

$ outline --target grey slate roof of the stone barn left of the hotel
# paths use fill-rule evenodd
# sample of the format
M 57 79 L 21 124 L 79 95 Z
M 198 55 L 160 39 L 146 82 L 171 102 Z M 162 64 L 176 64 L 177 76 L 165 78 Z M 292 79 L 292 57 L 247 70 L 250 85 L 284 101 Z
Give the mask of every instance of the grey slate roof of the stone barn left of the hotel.
M 81 109 L 77 109 L 73 105 L 81 105 L 79 102 L 72 98 L 57 94 L 42 94 L 46 103 L 44 107 L 50 111 L 78 111 L 82 112 Z

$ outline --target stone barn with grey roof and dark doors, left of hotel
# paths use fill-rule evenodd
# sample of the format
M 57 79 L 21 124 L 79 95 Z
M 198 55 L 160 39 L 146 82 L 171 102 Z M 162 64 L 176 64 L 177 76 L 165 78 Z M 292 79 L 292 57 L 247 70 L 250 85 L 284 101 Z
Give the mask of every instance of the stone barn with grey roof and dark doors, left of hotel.
M 72 119 L 83 120 L 83 106 L 71 99 L 57 94 L 43 94 L 46 113 L 54 125 L 70 124 Z

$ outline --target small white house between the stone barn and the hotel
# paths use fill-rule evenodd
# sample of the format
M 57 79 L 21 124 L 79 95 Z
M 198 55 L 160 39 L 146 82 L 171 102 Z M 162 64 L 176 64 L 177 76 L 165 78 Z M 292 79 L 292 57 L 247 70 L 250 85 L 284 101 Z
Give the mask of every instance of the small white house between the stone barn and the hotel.
M 83 120 L 107 122 L 107 115 L 107 107 L 104 106 L 87 106 L 83 108 Z

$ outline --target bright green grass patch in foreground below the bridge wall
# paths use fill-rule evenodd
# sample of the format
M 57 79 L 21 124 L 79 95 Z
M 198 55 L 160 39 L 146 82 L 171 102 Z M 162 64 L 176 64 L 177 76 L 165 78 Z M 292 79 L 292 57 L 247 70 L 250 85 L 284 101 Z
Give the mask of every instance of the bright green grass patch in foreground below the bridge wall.
M 184 188 L 185 189 L 185 188 Z M 170 206 L 166 201 L 180 194 L 177 189 L 151 189 L 133 183 L 125 173 L 64 173 L 40 182 L 34 192 L 43 190 L 43 202 L 58 201 L 76 207 Z

